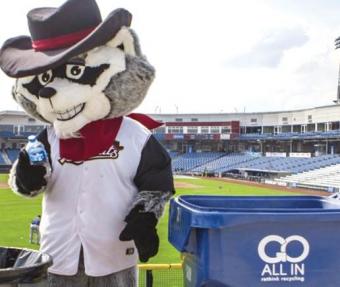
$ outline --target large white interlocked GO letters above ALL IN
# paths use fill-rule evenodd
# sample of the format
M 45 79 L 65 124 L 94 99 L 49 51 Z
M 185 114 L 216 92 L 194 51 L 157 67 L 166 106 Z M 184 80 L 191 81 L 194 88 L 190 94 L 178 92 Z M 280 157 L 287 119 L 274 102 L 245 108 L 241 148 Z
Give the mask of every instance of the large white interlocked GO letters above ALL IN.
M 289 243 L 293 241 L 299 242 L 303 247 L 301 254 L 297 257 L 292 257 L 289 256 L 289 254 L 287 254 L 287 246 Z M 268 243 L 271 242 L 277 242 L 280 245 L 280 251 L 276 252 L 274 257 L 271 257 L 266 253 L 266 246 Z M 304 237 L 300 235 L 292 235 L 287 237 L 286 239 L 278 235 L 268 235 L 260 241 L 257 251 L 259 253 L 260 258 L 266 263 L 271 264 L 279 262 L 298 263 L 307 258 L 309 254 L 309 243 Z

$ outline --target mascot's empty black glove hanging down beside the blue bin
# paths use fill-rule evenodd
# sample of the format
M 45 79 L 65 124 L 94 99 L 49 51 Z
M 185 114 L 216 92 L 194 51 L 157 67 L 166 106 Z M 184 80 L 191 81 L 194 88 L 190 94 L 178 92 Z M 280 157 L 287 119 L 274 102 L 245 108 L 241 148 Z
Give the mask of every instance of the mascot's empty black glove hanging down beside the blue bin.
M 121 232 L 121 241 L 134 240 L 138 249 L 139 260 L 147 262 L 158 252 L 157 218 L 152 212 L 143 212 L 141 205 L 135 206 L 125 218 L 127 225 Z

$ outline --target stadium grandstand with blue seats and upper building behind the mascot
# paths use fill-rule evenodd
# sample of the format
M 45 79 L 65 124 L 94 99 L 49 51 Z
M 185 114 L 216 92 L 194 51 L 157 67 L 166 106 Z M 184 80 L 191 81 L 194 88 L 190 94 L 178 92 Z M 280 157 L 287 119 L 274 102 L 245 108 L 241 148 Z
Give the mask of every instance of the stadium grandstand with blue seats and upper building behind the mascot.
M 339 103 L 277 112 L 151 116 L 164 123 L 154 135 L 169 151 L 175 173 L 340 187 L 335 172 L 340 167 Z M 24 112 L 0 112 L 0 170 L 8 171 L 27 136 L 45 126 Z M 318 171 L 322 176 L 313 175 Z

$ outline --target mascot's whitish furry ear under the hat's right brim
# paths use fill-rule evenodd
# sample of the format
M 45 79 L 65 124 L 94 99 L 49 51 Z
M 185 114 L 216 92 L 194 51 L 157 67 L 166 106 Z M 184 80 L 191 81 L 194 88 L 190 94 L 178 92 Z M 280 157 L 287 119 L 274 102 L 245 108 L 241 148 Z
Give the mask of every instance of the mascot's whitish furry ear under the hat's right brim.
M 122 27 L 116 36 L 106 43 L 106 45 L 112 48 L 120 47 L 124 50 L 125 54 L 136 56 L 136 54 L 138 54 L 138 51 L 136 51 L 136 41 L 138 40 L 135 35 L 133 35 L 132 31 L 127 27 Z

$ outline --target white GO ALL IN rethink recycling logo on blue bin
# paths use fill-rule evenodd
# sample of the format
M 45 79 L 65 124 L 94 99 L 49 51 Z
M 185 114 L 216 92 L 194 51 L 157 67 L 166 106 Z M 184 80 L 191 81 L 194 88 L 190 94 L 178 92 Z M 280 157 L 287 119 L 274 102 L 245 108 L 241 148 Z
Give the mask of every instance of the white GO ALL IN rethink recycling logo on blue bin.
M 300 235 L 264 237 L 257 248 L 259 257 L 266 263 L 261 272 L 261 281 L 304 282 L 303 261 L 308 257 L 309 250 L 308 241 Z

